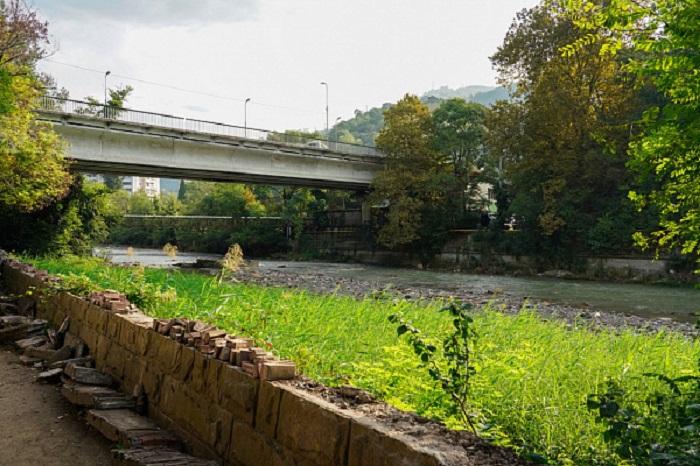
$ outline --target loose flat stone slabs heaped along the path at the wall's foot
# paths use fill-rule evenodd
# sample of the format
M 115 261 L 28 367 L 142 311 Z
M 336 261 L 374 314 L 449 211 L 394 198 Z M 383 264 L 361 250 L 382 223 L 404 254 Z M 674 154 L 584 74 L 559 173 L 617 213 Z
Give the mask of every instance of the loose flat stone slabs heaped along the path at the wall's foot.
M 133 310 L 128 302 L 124 305 L 125 299 L 118 293 L 98 293 L 92 298 L 113 312 Z M 58 329 L 51 329 L 45 320 L 17 315 L 20 301 L 0 295 L 0 343 L 14 342 L 22 353 L 22 364 L 40 371 L 36 381 L 62 384 L 61 394 L 87 410 L 88 424 L 118 444 L 112 452 L 112 465 L 216 465 L 184 453 L 184 445 L 175 434 L 143 416 L 142 392 L 129 396 L 113 388 L 116 381 L 94 368 L 95 359 L 85 342 L 68 332 L 70 317 Z

